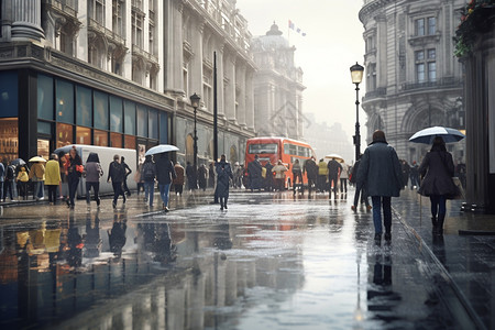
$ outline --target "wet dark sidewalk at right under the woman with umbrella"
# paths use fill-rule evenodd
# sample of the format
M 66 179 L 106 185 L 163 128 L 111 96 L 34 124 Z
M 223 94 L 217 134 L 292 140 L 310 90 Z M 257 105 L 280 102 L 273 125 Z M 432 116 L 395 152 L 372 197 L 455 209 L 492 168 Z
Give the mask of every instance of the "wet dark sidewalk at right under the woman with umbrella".
M 421 199 L 421 200 L 420 200 Z M 479 328 L 495 328 L 495 240 L 493 235 L 461 235 L 495 229 L 494 216 L 463 213 L 461 200 L 448 201 L 443 238 L 431 233 L 430 201 L 416 191 L 403 190 L 400 198 L 393 199 L 393 207 L 400 222 L 407 227 L 426 252 L 443 270 L 464 308 L 477 319 Z

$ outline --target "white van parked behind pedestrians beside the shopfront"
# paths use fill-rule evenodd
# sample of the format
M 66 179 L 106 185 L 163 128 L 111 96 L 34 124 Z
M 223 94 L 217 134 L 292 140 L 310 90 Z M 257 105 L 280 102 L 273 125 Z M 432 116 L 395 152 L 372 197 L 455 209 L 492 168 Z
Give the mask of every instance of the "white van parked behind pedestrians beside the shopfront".
M 76 151 L 79 154 L 82 165 L 86 164 L 86 160 L 88 160 L 89 153 L 97 153 L 100 158 L 101 168 L 103 169 L 103 176 L 100 179 L 100 195 L 113 194 L 113 188 L 111 182 L 107 182 L 108 169 L 110 163 L 113 162 L 113 155 L 119 155 L 119 157 L 125 158 L 125 164 L 132 169 L 132 174 L 128 177 L 128 187 L 129 189 L 136 189 L 138 185 L 134 182 L 134 174 L 138 170 L 136 164 L 136 152 L 133 148 L 120 148 L 120 147 L 108 147 L 108 146 L 96 146 L 96 145 L 86 145 L 86 144 L 69 144 L 63 147 L 59 147 L 54 151 L 55 154 L 59 154 L 64 152 L 66 154 L 76 146 Z M 79 186 L 77 187 L 77 196 L 86 197 L 86 179 L 84 177 L 80 178 Z

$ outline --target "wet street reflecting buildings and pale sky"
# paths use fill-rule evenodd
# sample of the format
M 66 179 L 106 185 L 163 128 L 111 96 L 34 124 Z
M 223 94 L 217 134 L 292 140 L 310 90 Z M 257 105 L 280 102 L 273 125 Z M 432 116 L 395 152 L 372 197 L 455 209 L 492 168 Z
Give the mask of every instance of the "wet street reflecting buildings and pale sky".
M 168 213 L 135 196 L 116 210 L 3 208 L 0 327 L 474 328 L 399 217 L 377 246 L 353 195 L 234 190 L 226 211 L 173 196 Z

